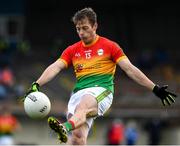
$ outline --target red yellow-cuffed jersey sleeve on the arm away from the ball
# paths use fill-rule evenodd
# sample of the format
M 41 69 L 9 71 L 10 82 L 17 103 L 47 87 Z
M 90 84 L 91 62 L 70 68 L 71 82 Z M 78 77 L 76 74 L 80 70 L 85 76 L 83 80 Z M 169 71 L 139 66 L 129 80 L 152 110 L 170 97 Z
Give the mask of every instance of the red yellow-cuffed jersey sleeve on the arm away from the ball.
M 119 62 L 120 60 L 126 58 L 122 48 L 115 42 L 112 43 L 111 46 L 111 56 L 114 62 Z

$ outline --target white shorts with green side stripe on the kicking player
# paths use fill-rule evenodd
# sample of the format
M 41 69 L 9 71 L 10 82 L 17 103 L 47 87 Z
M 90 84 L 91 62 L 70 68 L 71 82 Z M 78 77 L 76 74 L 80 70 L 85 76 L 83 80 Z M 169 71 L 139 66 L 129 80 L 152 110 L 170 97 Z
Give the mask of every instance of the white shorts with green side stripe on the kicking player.
M 98 101 L 98 115 L 96 117 L 103 116 L 104 113 L 110 108 L 113 101 L 112 92 L 103 87 L 90 87 L 79 90 L 71 95 L 68 102 L 67 116 L 70 114 L 74 115 L 77 105 L 80 103 L 82 97 L 87 94 L 94 96 Z M 87 118 L 86 123 L 88 124 L 89 128 L 92 126 L 93 120 L 96 117 Z

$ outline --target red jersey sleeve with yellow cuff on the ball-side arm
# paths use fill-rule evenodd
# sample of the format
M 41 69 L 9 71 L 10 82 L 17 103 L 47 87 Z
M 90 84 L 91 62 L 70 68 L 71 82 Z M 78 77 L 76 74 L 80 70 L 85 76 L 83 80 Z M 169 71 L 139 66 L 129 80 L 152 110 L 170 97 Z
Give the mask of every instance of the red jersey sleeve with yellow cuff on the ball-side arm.
M 67 47 L 60 56 L 60 60 L 65 63 L 66 67 L 72 64 L 72 47 Z

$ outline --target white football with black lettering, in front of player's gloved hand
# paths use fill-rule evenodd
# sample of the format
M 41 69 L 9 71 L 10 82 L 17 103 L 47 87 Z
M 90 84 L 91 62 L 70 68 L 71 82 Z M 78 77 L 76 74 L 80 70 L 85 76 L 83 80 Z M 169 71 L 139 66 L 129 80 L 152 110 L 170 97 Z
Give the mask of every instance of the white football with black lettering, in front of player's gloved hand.
M 42 92 L 32 92 L 24 100 L 26 114 L 33 119 L 46 117 L 51 110 L 51 102 L 46 94 Z

